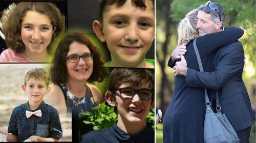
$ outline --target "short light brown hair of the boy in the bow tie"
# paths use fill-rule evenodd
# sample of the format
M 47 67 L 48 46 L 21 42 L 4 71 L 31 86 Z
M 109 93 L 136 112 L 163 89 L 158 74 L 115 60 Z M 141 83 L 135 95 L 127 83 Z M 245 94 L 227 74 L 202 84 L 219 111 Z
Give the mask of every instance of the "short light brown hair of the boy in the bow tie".
M 26 86 L 30 78 L 35 78 L 36 80 L 42 80 L 45 81 L 46 86 L 49 86 L 50 80 L 49 80 L 49 75 L 46 72 L 46 70 L 41 69 L 41 68 L 34 68 L 31 69 L 27 72 L 25 75 L 25 81 L 24 85 Z

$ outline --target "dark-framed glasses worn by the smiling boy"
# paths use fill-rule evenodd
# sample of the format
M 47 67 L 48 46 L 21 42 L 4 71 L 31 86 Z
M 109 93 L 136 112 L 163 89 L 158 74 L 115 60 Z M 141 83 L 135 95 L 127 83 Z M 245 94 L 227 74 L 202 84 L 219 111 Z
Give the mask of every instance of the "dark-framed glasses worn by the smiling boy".
M 138 94 L 140 99 L 142 100 L 150 100 L 153 97 L 153 90 L 147 90 L 147 89 L 141 89 L 141 90 L 133 90 L 129 88 L 123 88 L 123 89 L 115 89 L 115 91 L 119 91 L 121 97 L 131 99 L 135 96 L 135 94 Z

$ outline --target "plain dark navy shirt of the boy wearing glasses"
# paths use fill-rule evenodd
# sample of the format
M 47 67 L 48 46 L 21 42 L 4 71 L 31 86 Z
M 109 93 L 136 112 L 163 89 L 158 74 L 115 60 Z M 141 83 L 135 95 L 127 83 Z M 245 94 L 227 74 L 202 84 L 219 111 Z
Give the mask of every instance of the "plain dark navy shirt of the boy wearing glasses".
M 122 131 L 117 123 L 113 124 L 111 128 L 101 129 L 98 131 L 91 131 L 82 136 L 80 143 L 97 143 L 97 142 L 120 142 L 120 143 L 136 143 L 136 142 L 155 142 L 155 132 L 151 128 L 151 125 L 147 125 L 146 128 L 136 135 L 129 135 Z

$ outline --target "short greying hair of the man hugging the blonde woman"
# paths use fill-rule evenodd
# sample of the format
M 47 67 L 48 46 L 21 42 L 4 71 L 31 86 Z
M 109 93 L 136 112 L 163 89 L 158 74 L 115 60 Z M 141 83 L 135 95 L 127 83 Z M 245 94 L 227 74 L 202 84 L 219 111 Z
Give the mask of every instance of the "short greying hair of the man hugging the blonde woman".
M 210 2 L 210 3 L 214 3 L 214 2 Z M 211 8 L 209 7 L 209 4 L 210 4 L 210 3 L 206 3 L 205 5 L 201 5 L 201 6 L 198 8 L 198 10 L 199 10 L 199 11 L 203 11 L 203 12 L 205 12 L 205 13 L 207 13 L 207 14 L 210 14 L 212 21 L 215 21 L 215 22 L 220 21 L 220 17 L 219 17 L 219 14 L 220 14 L 220 16 L 221 16 L 221 22 L 222 22 L 223 25 L 224 25 L 224 22 L 225 22 L 225 10 L 221 7 L 220 4 L 214 3 L 214 4 L 217 5 L 217 10 L 219 11 L 219 14 L 218 14 L 218 12 L 217 12 L 216 10 L 213 10 L 213 9 L 211 9 Z

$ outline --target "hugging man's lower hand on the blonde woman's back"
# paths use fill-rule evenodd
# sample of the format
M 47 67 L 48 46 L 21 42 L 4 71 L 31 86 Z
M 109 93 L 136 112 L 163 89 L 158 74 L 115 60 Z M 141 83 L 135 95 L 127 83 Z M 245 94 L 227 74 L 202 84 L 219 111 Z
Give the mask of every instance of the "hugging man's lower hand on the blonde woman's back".
M 176 66 L 174 66 L 174 75 L 178 76 L 186 76 L 187 75 L 187 62 L 183 55 L 180 56 L 181 61 L 176 62 Z

